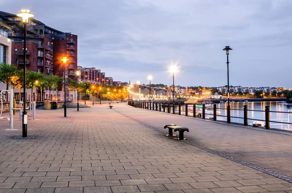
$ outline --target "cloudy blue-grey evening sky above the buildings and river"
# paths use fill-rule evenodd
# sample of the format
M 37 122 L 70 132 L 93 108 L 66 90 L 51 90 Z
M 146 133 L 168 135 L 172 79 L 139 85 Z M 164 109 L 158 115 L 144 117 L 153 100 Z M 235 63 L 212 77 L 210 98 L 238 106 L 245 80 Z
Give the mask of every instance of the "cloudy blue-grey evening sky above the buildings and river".
M 13 3 L 12 3 L 13 2 Z M 292 88 L 292 0 L 0 0 L 78 35 L 78 66 L 114 81 Z

